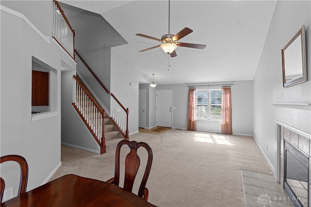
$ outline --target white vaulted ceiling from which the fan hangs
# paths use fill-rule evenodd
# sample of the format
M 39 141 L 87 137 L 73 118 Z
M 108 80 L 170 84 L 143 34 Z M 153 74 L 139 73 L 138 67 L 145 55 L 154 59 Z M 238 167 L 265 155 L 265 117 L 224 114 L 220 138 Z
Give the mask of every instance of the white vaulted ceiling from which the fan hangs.
M 60 0 L 100 14 L 128 42 L 113 49 L 157 84 L 253 80 L 276 1 L 171 0 L 171 33 L 193 30 L 179 42 L 206 48 L 178 47 L 177 57 L 155 48 L 152 39 L 168 33 L 168 0 Z M 66 14 L 66 13 L 65 13 Z

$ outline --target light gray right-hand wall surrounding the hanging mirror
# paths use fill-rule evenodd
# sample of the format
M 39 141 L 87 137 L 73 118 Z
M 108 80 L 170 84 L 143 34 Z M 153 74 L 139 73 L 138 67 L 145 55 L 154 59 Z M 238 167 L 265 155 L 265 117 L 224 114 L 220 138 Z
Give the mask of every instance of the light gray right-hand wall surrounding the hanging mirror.
M 308 81 L 282 85 L 281 49 L 305 25 Z M 273 102 L 311 102 L 311 1 L 277 1 L 254 78 L 254 136 L 271 169 L 276 166 L 275 109 Z M 264 145 L 265 144 L 265 145 Z

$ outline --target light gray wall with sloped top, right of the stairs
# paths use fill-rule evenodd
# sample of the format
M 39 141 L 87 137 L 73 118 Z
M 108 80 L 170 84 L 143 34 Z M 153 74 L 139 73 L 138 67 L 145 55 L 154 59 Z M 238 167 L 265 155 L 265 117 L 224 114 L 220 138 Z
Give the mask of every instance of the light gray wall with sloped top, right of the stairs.
M 149 82 L 133 65 L 111 48 L 111 92 L 129 109 L 129 133 L 138 132 L 139 81 Z M 130 83 L 134 83 L 133 86 Z

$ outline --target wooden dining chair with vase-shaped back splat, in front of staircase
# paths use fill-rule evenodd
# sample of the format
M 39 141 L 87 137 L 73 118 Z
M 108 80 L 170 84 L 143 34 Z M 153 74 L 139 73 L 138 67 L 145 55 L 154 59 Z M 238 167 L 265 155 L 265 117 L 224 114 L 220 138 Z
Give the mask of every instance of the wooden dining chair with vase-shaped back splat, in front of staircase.
M 139 147 L 144 147 L 148 152 L 148 159 L 146 164 L 145 173 L 142 177 L 139 190 L 138 190 L 138 196 L 140 196 L 142 199 L 148 201 L 149 191 L 146 188 L 146 183 L 148 180 L 148 176 L 151 169 L 153 154 L 152 149 L 147 143 L 136 141 L 128 141 L 128 140 L 122 140 L 117 145 L 116 149 L 116 163 L 115 163 L 115 176 L 109 180 L 107 180 L 108 183 L 114 184 L 119 186 L 120 181 L 120 151 L 122 145 L 128 145 L 130 148 L 130 152 L 127 154 L 125 158 L 125 173 L 124 173 L 124 186 L 123 189 L 129 192 L 132 192 L 134 180 L 137 175 L 139 165 L 140 165 L 140 158 L 137 154 L 137 149 Z

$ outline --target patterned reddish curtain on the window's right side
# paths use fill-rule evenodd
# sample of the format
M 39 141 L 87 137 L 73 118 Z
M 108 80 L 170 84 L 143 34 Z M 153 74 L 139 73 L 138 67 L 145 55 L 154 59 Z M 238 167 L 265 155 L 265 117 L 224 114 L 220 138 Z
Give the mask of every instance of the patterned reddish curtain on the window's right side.
M 222 91 L 222 134 L 232 134 L 231 88 L 223 87 Z

